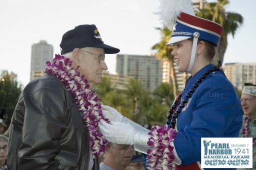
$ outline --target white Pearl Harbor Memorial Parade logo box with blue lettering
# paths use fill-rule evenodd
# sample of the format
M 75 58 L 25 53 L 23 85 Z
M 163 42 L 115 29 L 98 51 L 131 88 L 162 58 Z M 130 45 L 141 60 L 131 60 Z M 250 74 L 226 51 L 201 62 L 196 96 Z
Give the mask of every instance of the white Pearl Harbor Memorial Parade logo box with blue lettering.
M 202 137 L 202 168 L 252 168 L 251 137 Z

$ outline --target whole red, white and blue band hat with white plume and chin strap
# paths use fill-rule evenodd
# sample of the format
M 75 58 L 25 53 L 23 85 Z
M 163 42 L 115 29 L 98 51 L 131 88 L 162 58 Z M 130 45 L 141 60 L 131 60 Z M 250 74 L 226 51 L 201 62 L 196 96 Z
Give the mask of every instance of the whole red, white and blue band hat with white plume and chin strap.
M 191 57 L 186 69 L 192 69 L 198 38 L 213 42 L 216 46 L 223 31 L 223 27 L 215 22 L 195 16 L 198 11 L 191 0 L 160 0 L 159 11 L 165 26 L 171 31 L 171 38 L 166 44 L 172 46 L 174 42 L 193 38 Z

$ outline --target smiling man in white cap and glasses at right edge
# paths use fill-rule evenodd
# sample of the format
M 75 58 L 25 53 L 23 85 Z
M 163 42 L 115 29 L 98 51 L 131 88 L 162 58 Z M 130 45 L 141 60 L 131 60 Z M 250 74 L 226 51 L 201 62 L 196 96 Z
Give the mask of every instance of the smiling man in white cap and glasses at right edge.
M 256 85 L 244 83 L 241 94 L 241 105 L 243 111 L 243 123 L 239 137 L 252 137 L 252 168 L 256 168 Z M 238 168 L 251 169 L 251 168 Z

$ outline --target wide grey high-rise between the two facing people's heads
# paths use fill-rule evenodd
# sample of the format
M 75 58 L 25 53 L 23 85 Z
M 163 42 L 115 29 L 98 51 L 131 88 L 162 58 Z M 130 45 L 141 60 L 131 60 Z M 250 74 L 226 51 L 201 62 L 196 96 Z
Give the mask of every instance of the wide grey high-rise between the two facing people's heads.
M 153 91 L 162 81 L 161 60 L 154 55 L 116 55 L 116 72 L 141 79 L 144 87 Z

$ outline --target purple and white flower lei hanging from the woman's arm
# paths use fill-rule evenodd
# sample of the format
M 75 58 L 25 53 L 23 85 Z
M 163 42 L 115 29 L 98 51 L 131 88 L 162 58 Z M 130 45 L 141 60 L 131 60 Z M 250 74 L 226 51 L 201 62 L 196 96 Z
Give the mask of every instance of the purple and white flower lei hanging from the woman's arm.
M 151 136 L 147 141 L 150 147 L 147 150 L 147 162 L 151 167 L 149 169 L 172 169 L 171 162 L 174 160 L 174 154 L 170 143 L 176 136 L 176 131 L 165 124 L 153 127 L 148 134 Z

